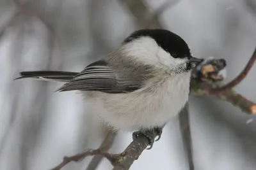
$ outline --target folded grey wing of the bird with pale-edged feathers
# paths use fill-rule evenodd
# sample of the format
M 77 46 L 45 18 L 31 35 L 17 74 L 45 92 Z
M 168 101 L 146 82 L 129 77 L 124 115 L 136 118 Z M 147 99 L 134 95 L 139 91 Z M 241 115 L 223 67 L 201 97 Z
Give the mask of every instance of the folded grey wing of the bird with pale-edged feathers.
M 140 82 L 120 76 L 106 60 L 98 60 L 85 67 L 57 91 L 90 90 L 106 93 L 127 93 L 140 89 Z

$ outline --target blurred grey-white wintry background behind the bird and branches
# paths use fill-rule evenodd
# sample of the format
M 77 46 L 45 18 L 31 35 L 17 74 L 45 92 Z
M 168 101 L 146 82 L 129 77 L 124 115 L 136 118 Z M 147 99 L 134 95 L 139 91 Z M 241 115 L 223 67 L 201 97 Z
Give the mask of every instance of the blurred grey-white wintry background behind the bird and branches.
M 137 0 L 134 0 L 137 1 Z M 227 78 L 243 69 L 256 45 L 255 0 L 145 0 L 159 22 L 184 38 L 196 57 L 227 60 Z M 147 16 L 145 16 L 147 18 Z M 51 169 L 64 155 L 98 148 L 106 133 L 79 92 L 54 92 L 62 83 L 13 81 L 20 71 L 81 71 L 139 29 L 125 0 L 0 0 L 0 169 Z M 140 24 L 140 23 L 139 23 Z M 256 66 L 235 88 L 256 101 Z M 196 170 L 255 170 L 256 119 L 230 103 L 190 97 Z M 118 134 L 119 153 L 131 134 Z M 92 157 L 70 163 L 86 169 Z M 97 169 L 111 169 L 103 160 Z M 131 169 L 188 170 L 178 116 L 164 127 L 152 150 Z

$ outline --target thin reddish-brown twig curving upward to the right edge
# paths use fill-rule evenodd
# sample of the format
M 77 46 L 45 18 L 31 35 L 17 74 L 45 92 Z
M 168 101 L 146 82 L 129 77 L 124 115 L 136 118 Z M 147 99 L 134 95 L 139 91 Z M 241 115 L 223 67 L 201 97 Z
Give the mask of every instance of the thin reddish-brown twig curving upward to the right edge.
M 252 68 L 255 60 L 256 60 L 256 48 L 252 54 L 252 57 L 250 58 L 250 60 L 246 64 L 246 66 L 244 67 L 243 71 L 236 78 L 234 78 L 234 80 L 227 83 L 227 85 L 224 85 L 223 87 L 220 87 L 218 89 L 212 89 L 211 94 L 218 94 L 225 90 L 232 89 L 233 87 L 238 85 L 247 76 L 247 74 L 249 73 L 250 69 Z

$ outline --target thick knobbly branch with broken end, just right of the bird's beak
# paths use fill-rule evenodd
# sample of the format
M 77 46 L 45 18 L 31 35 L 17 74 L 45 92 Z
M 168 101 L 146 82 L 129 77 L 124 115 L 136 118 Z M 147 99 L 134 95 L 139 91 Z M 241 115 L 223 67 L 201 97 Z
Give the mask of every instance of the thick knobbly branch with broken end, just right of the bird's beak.
M 247 64 L 244 71 L 241 73 L 243 76 L 237 76 L 238 80 L 241 81 L 244 76 L 248 73 L 250 67 L 252 67 L 252 62 L 255 57 L 255 52 L 253 53 L 250 61 Z M 223 101 L 228 101 L 229 103 L 237 106 L 244 113 L 255 114 L 256 104 L 252 101 L 246 99 L 241 94 L 237 94 L 234 89 L 225 89 L 218 93 L 212 93 L 212 89 L 220 89 L 225 87 L 222 85 L 223 76 L 219 74 L 222 69 L 225 69 L 226 61 L 223 59 L 211 59 L 205 60 L 201 64 L 198 64 L 196 69 L 193 71 L 191 82 L 190 82 L 190 95 L 192 96 L 211 96 L 217 97 Z M 241 78 L 240 78 L 241 77 Z M 235 80 L 237 80 L 237 78 Z M 236 81 L 237 83 L 237 81 Z M 229 84 L 229 83 L 228 83 Z M 230 87 L 230 86 L 229 86 Z M 231 88 L 231 87 L 230 87 Z

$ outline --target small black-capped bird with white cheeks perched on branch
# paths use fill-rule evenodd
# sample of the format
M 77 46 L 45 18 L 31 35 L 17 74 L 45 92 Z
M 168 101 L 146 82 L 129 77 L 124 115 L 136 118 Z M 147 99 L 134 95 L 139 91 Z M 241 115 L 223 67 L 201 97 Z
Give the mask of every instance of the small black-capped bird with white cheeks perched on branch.
M 177 34 L 141 29 L 80 73 L 24 71 L 17 79 L 66 82 L 56 91 L 79 90 L 106 127 L 132 131 L 133 139 L 142 134 L 152 148 L 149 134 L 157 130 L 161 138 L 161 127 L 184 107 L 191 70 L 200 61 Z

